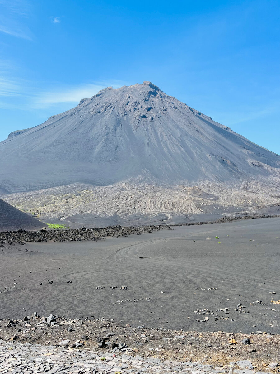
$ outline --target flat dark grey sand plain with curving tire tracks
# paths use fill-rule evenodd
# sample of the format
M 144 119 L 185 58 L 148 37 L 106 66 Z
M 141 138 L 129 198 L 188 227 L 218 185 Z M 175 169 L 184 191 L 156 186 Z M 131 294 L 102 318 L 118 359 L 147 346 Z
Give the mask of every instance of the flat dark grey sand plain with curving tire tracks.
M 280 333 L 280 305 L 271 303 L 280 299 L 280 218 L 172 229 L 2 247 L 1 318 L 36 311 L 131 326 Z M 204 308 L 214 314 L 194 313 Z

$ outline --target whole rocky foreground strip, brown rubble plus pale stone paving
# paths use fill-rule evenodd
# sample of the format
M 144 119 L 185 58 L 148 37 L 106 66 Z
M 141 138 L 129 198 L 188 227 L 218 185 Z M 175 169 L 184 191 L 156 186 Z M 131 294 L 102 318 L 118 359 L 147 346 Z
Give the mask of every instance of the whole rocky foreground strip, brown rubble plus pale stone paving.
M 0 373 L 280 372 L 279 335 L 174 331 L 34 312 L 0 320 Z

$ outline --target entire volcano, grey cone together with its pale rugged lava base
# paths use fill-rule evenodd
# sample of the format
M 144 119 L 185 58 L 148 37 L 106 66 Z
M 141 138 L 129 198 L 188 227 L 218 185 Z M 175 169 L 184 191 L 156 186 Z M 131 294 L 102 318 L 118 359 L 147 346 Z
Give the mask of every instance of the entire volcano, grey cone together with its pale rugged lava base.
M 151 82 L 105 88 L 12 132 L 0 158 L 6 201 L 69 222 L 171 223 L 203 212 L 276 213 L 280 204 L 279 155 Z

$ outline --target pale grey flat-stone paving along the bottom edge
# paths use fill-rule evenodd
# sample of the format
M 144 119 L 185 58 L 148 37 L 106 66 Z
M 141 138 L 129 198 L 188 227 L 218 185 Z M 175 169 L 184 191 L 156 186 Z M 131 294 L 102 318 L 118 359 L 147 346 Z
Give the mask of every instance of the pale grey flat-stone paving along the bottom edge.
M 206 361 L 206 360 L 204 360 Z M 99 351 L 84 348 L 73 350 L 41 344 L 16 344 L 0 341 L 0 373 L 236 373 L 268 374 L 277 372 L 278 363 L 271 363 L 268 370 L 254 370 L 249 360 L 229 362 L 228 365 L 214 366 L 203 361 L 162 360 L 142 357 L 134 353 L 115 355 L 100 354 Z

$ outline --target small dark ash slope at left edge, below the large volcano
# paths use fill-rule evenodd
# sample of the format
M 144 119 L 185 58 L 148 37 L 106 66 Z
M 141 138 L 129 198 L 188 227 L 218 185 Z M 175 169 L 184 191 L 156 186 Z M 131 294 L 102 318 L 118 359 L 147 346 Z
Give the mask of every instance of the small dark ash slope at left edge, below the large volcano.
M 0 199 L 0 231 L 41 229 L 43 223 Z

